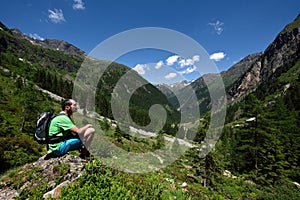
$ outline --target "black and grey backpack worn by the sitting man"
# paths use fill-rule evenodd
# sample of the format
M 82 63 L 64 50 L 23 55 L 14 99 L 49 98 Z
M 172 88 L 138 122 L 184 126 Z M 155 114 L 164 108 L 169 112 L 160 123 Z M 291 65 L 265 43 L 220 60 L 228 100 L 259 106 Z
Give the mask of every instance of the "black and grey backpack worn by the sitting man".
M 49 127 L 51 120 L 62 114 L 54 115 L 52 112 L 43 112 L 37 117 L 36 128 L 34 130 L 34 140 L 40 144 L 53 144 L 64 140 L 63 136 L 49 136 Z

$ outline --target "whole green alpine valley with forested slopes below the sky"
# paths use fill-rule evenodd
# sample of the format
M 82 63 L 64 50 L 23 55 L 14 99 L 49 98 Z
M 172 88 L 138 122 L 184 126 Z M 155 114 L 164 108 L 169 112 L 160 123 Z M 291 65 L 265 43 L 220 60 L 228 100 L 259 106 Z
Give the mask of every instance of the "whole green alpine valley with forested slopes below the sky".
M 85 103 L 78 115 L 87 119 L 76 123 L 96 120 L 101 129 L 95 142 L 101 148 L 88 161 L 77 151 L 44 160 L 45 146 L 33 140 L 36 117 L 45 110 L 58 112 L 60 99 L 72 97 L 83 62 L 96 65 L 100 71 L 92 74 L 103 76 L 89 88 L 96 91 L 94 102 L 85 101 L 82 87 L 77 100 Z M 126 119 L 115 121 L 112 94 L 129 72 L 124 93 L 132 92 L 132 82 L 145 84 L 120 113 L 128 109 L 137 126 L 146 126 L 164 119 L 149 113 L 159 104 L 166 114 L 161 130 L 125 130 Z M 125 65 L 95 60 L 66 41 L 32 39 L 0 23 L 0 199 L 300 199 L 299 72 L 300 15 L 263 52 L 220 74 L 172 86 L 153 86 Z M 225 124 L 216 144 L 204 143 L 214 137 L 206 135 L 215 114 L 208 88 L 218 89 L 219 76 L 227 99 Z M 198 102 L 189 109 L 199 109 L 201 116 L 181 125 L 178 102 L 190 98 L 187 88 Z M 137 159 L 126 163 L 116 147 Z M 131 166 L 152 171 L 133 173 Z

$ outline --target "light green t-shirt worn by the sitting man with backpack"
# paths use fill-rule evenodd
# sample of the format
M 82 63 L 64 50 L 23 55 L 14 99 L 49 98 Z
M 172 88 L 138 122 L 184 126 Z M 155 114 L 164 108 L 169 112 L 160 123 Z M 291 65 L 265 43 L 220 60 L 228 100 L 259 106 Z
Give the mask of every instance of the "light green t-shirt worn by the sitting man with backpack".
M 49 127 L 49 136 L 53 136 L 58 132 L 62 132 L 57 134 L 56 136 L 67 136 L 67 134 L 70 134 L 69 129 L 74 128 L 75 124 L 72 122 L 70 117 L 68 117 L 66 114 L 63 114 L 64 112 L 61 112 L 62 115 L 59 115 L 52 119 Z M 60 113 L 60 114 L 61 114 Z M 56 150 L 58 147 L 60 147 L 62 142 L 55 143 L 55 144 L 49 144 L 48 147 L 48 153 Z

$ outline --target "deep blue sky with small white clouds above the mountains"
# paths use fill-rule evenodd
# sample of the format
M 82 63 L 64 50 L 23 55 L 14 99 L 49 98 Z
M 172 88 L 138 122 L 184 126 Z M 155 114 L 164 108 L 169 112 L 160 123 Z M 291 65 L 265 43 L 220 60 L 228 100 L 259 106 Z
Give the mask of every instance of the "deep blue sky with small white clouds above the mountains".
M 224 71 L 245 56 L 264 51 L 299 11 L 299 0 L 9 0 L 2 1 L 0 20 L 34 38 L 65 40 L 87 54 L 124 31 L 166 28 L 197 41 Z M 144 49 L 116 61 L 144 77 L 152 68 L 168 66 L 160 81 L 150 80 L 158 83 L 198 78 L 199 59 Z

